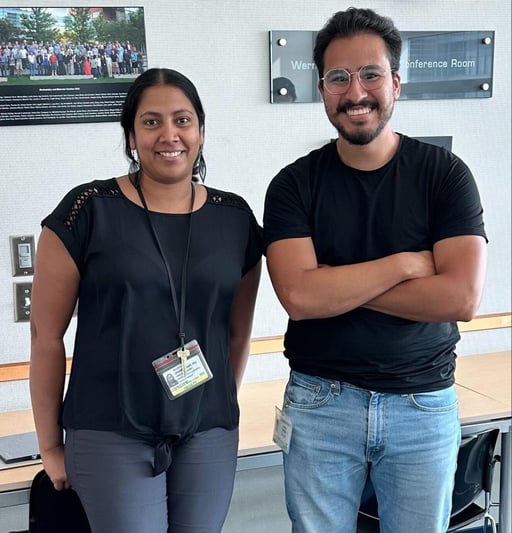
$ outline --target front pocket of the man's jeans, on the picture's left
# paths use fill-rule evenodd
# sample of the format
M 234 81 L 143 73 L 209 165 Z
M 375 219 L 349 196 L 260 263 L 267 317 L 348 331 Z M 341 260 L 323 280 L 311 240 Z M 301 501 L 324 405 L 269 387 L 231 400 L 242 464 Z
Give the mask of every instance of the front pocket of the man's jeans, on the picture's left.
M 315 409 L 329 402 L 332 387 L 329 380 L 292 371 L 284 394 L 287 407 Z

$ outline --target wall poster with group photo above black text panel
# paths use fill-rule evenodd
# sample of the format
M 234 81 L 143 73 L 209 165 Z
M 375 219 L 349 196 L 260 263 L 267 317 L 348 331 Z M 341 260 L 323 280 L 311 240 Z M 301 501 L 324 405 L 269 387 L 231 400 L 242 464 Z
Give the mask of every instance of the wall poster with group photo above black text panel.
M 118 121 L 146 68 L 143 7 L 0 7 L 0 126 Z

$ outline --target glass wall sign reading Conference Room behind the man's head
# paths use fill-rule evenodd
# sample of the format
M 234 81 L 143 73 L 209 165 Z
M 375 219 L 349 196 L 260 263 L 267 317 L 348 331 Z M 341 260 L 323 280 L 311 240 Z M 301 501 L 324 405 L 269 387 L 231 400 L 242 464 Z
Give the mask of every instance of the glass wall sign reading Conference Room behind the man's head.
M 272 103 L 321 101 L 313 62 L 316 34 L 269 32 Z M 493 31 L 418 31 L 401 35 L 401 100 L 492 96 Z

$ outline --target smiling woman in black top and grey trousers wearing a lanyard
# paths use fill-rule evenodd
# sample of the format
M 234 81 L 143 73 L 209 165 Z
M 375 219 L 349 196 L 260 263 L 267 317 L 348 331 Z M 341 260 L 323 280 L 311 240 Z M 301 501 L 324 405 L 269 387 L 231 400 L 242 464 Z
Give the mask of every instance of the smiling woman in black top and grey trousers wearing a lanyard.
M 34 418 L 44 468 L 93 533 L 213 533 L 227 514 L 261 234 L 242 198 L 200 183 L 204 122 L 190 80 L 146 71 L 121 117 L 128 175 L 76 187 L 42 222 Z

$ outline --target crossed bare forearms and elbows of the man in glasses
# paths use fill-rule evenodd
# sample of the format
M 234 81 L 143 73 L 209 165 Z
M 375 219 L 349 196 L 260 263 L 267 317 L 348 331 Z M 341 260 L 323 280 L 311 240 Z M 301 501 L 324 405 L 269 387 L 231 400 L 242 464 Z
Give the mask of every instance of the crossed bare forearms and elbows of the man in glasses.
M 319 265 L 309 237 L 273 242 L 267 266 L 292 320 L 328 318 L 356 307 L 421 322 L 467 321 L 485 281 L 486 243 L 465 235 L 433 252 L 400 252 L 343 266 Z

